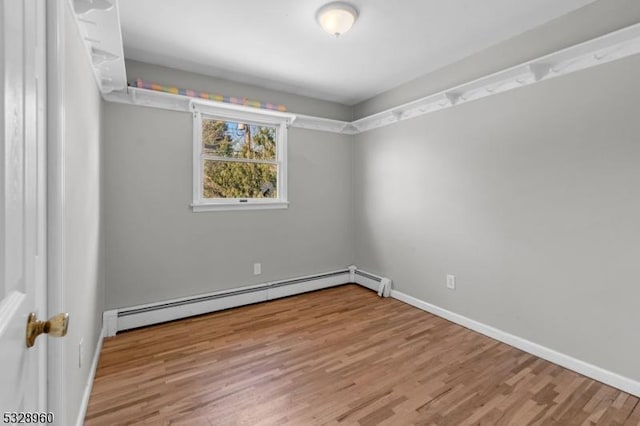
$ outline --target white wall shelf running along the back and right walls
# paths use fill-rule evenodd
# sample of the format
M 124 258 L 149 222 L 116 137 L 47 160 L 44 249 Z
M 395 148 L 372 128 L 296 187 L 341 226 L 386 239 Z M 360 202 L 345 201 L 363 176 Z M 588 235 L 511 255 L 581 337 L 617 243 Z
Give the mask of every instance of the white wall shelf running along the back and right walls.
M 635 24 L 353 122 L 296 114 L 293 127 L 347 135 L 358 134 L 639 53 L 640 24 Z M 177 111 L 188 111 L 192 99 L 132 87 L 127 92 L 105 94 L 104 98 L 112 102 Z

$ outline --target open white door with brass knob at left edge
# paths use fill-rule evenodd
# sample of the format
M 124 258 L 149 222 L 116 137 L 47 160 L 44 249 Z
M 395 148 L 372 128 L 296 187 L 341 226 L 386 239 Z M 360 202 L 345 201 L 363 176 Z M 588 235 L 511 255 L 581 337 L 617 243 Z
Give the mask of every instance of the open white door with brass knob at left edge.
M 0 424 L 46 410 L 46 339 L 25 341 L 46 314 L 44 6 L 0 0 Z

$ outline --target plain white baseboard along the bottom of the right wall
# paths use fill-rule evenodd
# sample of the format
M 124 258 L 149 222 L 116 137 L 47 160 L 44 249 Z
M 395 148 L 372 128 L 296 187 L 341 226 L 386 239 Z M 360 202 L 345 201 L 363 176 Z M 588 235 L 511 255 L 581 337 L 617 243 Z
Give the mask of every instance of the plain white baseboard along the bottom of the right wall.
M 560 353 L 553 349 L 549 349 L 545 346 L 523 339 L 522 337 L 514 336 L 513 334 L 507 333 L 506 331 L 499 330 L 465 316 L 432 305 L 400 291 L 392 290 L 391 297 L 407 303 L 411 306 L 415 306 L 418 309 L 422 309 L 423 311 L 427 311 L 429 313 L 447 319 L 473 331 L 477 331 L 478 333 L 484 334 L 485 336 L 491 337 L 495 340 L 499 340 L 503 343 L 506 343 L 507 345 L 528 352 L 539 358 L 546 359 L 547 361 L 550 361 L 554 364 L 558 364 L 562 367 L 568 368 L 569 370 L 573 370 L 584 376 L 640 397 L 640 382 L 638 381 L 573 358 L 569 355 Z

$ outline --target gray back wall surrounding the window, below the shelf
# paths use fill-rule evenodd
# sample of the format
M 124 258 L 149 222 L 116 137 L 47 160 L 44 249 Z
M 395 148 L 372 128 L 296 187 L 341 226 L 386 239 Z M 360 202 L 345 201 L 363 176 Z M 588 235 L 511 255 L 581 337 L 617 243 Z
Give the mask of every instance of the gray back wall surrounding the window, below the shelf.
M 107 309 L 350 264 L 348 136 L 290 129 L 286 210 L 193 213 L 191 114 L 107 103 L 104 125 Z

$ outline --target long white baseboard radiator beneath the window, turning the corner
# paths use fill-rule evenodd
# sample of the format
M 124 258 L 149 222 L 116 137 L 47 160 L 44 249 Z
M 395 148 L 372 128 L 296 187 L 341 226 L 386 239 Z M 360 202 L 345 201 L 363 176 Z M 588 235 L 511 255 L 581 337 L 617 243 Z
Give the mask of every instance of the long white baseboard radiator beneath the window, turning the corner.
M 388 278 L 378 277 L 359 270 L 356 266 L 350 266 L 323 274 L 110 310 L 104 313 L 103 321 L 109 337 L 115 336 L 118 331 L 265 302 L 346 283 L 360 284 L 376 291 L 381 297 L 389 297 L 391 293 L 391 280 Z

